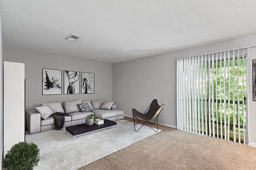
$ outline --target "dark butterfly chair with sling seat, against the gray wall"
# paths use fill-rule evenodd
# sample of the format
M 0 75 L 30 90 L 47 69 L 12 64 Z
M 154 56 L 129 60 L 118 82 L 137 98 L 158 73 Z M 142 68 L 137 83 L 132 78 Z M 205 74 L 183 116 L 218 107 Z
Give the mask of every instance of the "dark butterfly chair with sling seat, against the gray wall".
M 154 130 L 149 126 L 149 128 L 153 129 L 155 132 L 158 131 L 158 116 L 161 113 L 162 109 L 164 108 L 164 105 L 159 106 L 157 103 L 157 99 L 154 99 L 151 104 L 148 106 L 146 111 L 144 113 L 138 112 L 135 108 L 132 109 L 132 115 L 133 115 L 133 124 L 134 124 L 134 131 L 138 132 L 140 128 L 142 128 L 143 125 L 149 126 L 147 123 L 150 125 L 155 124 L 157 121 L 157 130 Z M 146 113 L 147 112 L 147 113 Z M 155 121 L 153 123 L 150 123 L 149 121 L 152 120 L 154 117 Z M 139 119 L 138 122 L 135 122 L 135 118 Z M 145 121 L 138 130 L 135 129 L 135 125 L 137 125 L 140 121 Z

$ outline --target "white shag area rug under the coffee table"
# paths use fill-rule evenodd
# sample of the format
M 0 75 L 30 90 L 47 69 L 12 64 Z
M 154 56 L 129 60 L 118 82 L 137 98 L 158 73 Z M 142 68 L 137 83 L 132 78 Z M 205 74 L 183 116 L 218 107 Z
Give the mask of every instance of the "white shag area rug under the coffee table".
M 26 141 L 36 143 L 40 149 L 40 161 L 35 169 L 77 169 L 157 133 L 148 126 L 135 132 L 133 122 L 116 122 L 117 126 L 75 139 L 70 133 L 65 134 L 65 130 L 27 134 Z

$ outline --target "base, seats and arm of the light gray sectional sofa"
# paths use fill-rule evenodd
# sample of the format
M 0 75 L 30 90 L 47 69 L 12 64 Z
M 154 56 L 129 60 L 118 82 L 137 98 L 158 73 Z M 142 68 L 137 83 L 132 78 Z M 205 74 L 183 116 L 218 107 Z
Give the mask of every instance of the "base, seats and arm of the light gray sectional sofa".
M 88 101 L 86 101 L 86 103 L 87 102 Z M 83 101 L 82 103 L 85 103 L 85 101 Z M 61 103 L 61 105 L 63 108 L 65 108 L 66 113 L 67 113 L 67 110 L 69 112 L 69 116 L 65 116 L 64 128 L 71 125 L 85 123 L 86 116 L 92 113 L 94 113 L 95 117 L 101 118 L 103 120 L 107 118 L 108 120 L 111 120 L 111 121 L 117 121 L 117 120 L 122 120 L 124 118 L 124 111 L 117 110 L 116 105 L 112 105 L 110 110 L 101 109 L 101 108 L 98 108 L 98 106 L 97 106 L 98 109 L 93 109 L 92 105 L 90 105 L 90 107 L 92 108 L 92 111 L 84 112 L 84 113 L 80 111 L 70 113 L 70 110 L 72 109 L 69 109 L 68 105 L 65 106 L 65 102 Z M 42 117 L 41 114 L 38 113 L 36 110 L 28 110 L 26 112 L 26 125 L 30 134 L 45 132 L 45 131 L 55 129 L 53 115 L 47 117 L 46 119 L 42 119 L 41 117 Z

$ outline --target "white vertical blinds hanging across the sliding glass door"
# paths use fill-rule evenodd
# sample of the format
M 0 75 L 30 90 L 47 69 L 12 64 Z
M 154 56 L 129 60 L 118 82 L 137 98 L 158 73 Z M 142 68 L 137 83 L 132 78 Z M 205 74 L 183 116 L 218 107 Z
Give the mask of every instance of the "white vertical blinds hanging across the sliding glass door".
M 245 143 L 248 52 L 177 60 L 177 129 Z

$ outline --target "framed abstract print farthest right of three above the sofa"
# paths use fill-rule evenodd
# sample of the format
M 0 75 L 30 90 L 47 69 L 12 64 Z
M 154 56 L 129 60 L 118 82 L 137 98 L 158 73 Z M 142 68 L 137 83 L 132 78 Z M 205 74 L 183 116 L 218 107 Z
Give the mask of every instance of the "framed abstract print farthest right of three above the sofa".
M 94 73 L 81 73 L 81 94 L 94 94 Z

